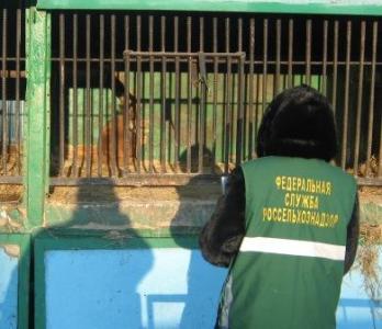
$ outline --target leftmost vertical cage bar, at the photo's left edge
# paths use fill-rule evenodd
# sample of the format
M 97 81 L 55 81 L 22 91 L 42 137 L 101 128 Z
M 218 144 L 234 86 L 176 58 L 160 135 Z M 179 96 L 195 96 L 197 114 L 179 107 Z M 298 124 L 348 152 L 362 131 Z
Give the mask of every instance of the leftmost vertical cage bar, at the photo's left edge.
M 8 10 L 4 8 L 2 10 L 2 77 L 1 77 L 1 117 L 2 117 L 2 170 L 3 175 L 7 175 L 7 147 L 8 147 L 8 140 L 7 140 L 7 114 L 8 114 L 8 106 L 7 106 L 7 20 L 8 20 Z

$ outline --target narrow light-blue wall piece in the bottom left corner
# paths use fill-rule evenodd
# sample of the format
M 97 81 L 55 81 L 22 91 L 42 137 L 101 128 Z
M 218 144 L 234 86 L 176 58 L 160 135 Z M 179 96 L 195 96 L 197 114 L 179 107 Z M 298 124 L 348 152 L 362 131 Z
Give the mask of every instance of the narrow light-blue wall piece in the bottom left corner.
M 18 263 L 0 246 L 0 328 L 18 328 Z

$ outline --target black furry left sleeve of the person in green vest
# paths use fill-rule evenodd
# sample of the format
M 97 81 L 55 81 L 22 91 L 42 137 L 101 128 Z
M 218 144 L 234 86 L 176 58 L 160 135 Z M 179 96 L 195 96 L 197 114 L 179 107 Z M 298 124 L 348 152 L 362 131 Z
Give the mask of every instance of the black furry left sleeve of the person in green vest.
M 222 195 L 203 227 L 199 243 L 206 261 L 228 266 L 245 234 L 245 182 L 240 167 L 229 174 L 226 193 Z

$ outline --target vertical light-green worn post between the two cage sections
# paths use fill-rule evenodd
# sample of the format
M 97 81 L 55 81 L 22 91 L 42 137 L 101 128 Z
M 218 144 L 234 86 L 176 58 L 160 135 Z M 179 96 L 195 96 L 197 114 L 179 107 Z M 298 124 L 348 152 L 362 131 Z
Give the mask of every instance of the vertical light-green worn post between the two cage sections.
M 49 170 L 50 14 L 26 11 L 26 98 L 24 206 L 30 229 L 43 224 Z

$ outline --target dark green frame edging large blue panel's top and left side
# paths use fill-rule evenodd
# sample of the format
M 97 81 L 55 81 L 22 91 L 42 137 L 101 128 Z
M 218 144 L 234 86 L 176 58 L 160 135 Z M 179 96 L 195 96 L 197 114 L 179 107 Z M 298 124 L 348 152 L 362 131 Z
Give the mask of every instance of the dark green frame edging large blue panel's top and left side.
M 181 241 L 181 245 L 179 243 Z M 52 250 L 121 250 L 149 248 L 188 248 L 199 249 L 196 236 L 158 237 L 157 231 L 138 231 L 121 239 L 105 236 L 53 235 L 47 231 L 34 238 L 35 275 L 35 328 L 46 328 L 45 307 L 45 252 Z

